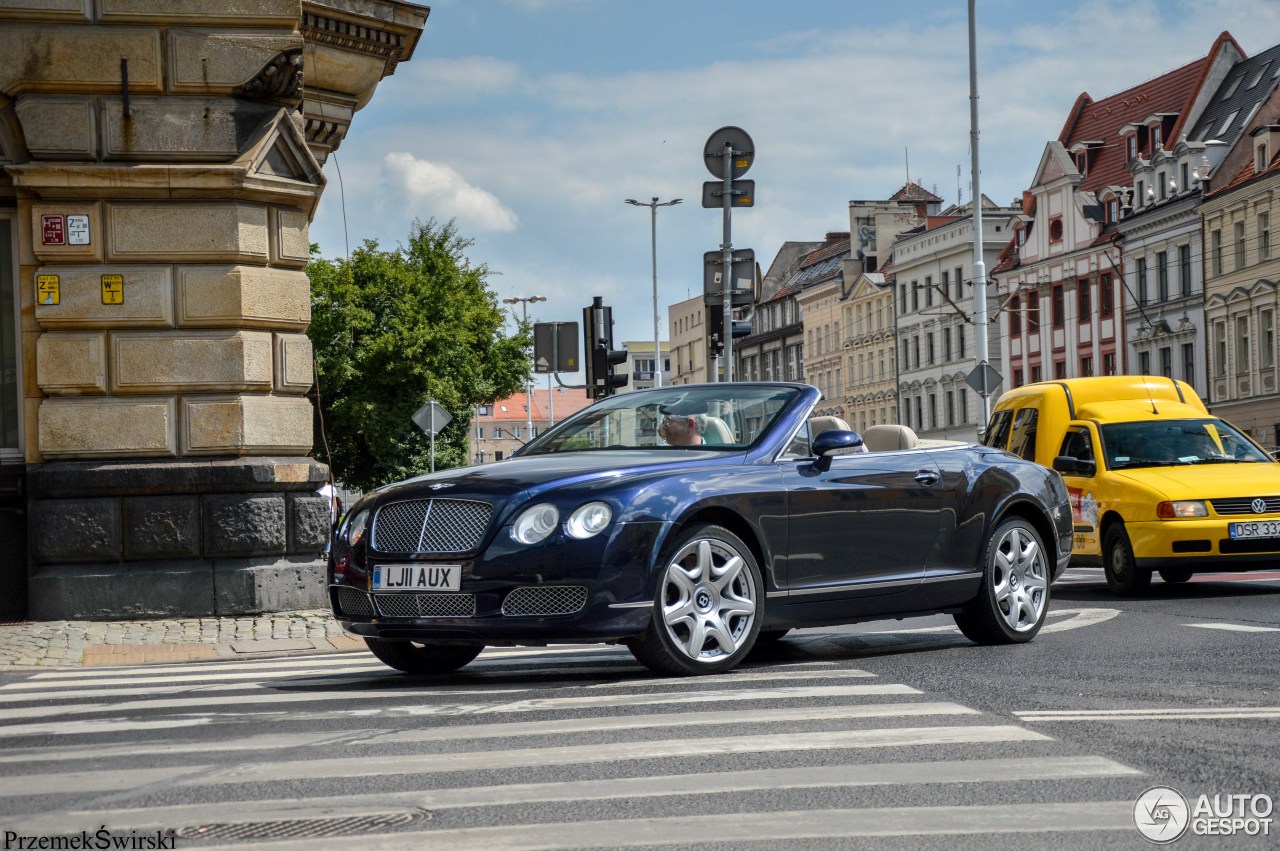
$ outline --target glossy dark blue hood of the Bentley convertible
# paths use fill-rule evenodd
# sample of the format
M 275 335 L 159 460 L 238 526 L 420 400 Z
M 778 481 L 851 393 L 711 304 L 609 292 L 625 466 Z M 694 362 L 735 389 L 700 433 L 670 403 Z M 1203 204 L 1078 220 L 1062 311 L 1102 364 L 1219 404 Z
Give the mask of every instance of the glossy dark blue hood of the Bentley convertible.
M 419 476 L 375 491 L 380 498 L 425 491 L 436 497 L 492 494 L 536 489 L 553 481 L 585 481 L 595 477 L 625 477 L 658 470 L 741 463 L 740 453 L 719 450 L 626 449 L 566 452 L 550 456 L 517 456 L 474 467 L 457 467 Z

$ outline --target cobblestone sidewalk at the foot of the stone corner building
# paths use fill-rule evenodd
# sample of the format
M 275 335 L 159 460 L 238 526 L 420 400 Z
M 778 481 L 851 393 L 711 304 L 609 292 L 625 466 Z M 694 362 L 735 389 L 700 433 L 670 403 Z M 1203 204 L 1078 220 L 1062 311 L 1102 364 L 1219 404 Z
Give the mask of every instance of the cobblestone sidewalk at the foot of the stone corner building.
M 325 610 L 234 618 L 0 624 L 0 669 L 248 659 L 362 650 Z

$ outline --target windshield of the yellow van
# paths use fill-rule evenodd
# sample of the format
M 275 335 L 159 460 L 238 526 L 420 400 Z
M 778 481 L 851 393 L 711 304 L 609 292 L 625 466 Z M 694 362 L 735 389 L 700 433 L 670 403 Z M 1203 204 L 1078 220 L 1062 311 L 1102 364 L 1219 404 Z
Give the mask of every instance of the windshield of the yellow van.
M 1270 462 L 1234 426 L 1213 418 L 1115 422 L 1101 427 L 1107 467 Z

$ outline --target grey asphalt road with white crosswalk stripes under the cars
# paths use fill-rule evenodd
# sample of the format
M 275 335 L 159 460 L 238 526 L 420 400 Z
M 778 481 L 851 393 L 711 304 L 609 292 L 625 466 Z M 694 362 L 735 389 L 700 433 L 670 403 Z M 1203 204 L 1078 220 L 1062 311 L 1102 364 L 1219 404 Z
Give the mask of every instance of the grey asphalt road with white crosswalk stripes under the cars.
M 4 673 L 0 838 L 1079 851 L 1149 847 L 1134 804 L 1155 786 L 1192 809 L 1280 799 L 1280 573 L 1119 600 L 1071 571 L 1053 591 L 1029 645 L 877 622 L 698 680 L 566 646 L 435 680 L 362 653 Z

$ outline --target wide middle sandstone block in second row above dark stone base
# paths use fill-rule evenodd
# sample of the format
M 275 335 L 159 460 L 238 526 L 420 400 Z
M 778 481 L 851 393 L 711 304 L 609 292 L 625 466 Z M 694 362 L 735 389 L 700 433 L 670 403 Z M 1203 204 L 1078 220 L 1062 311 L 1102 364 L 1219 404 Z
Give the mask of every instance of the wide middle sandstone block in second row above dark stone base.
M 125 331 L 111 335 L 113 393 L 271 388 L 265 331 Z

